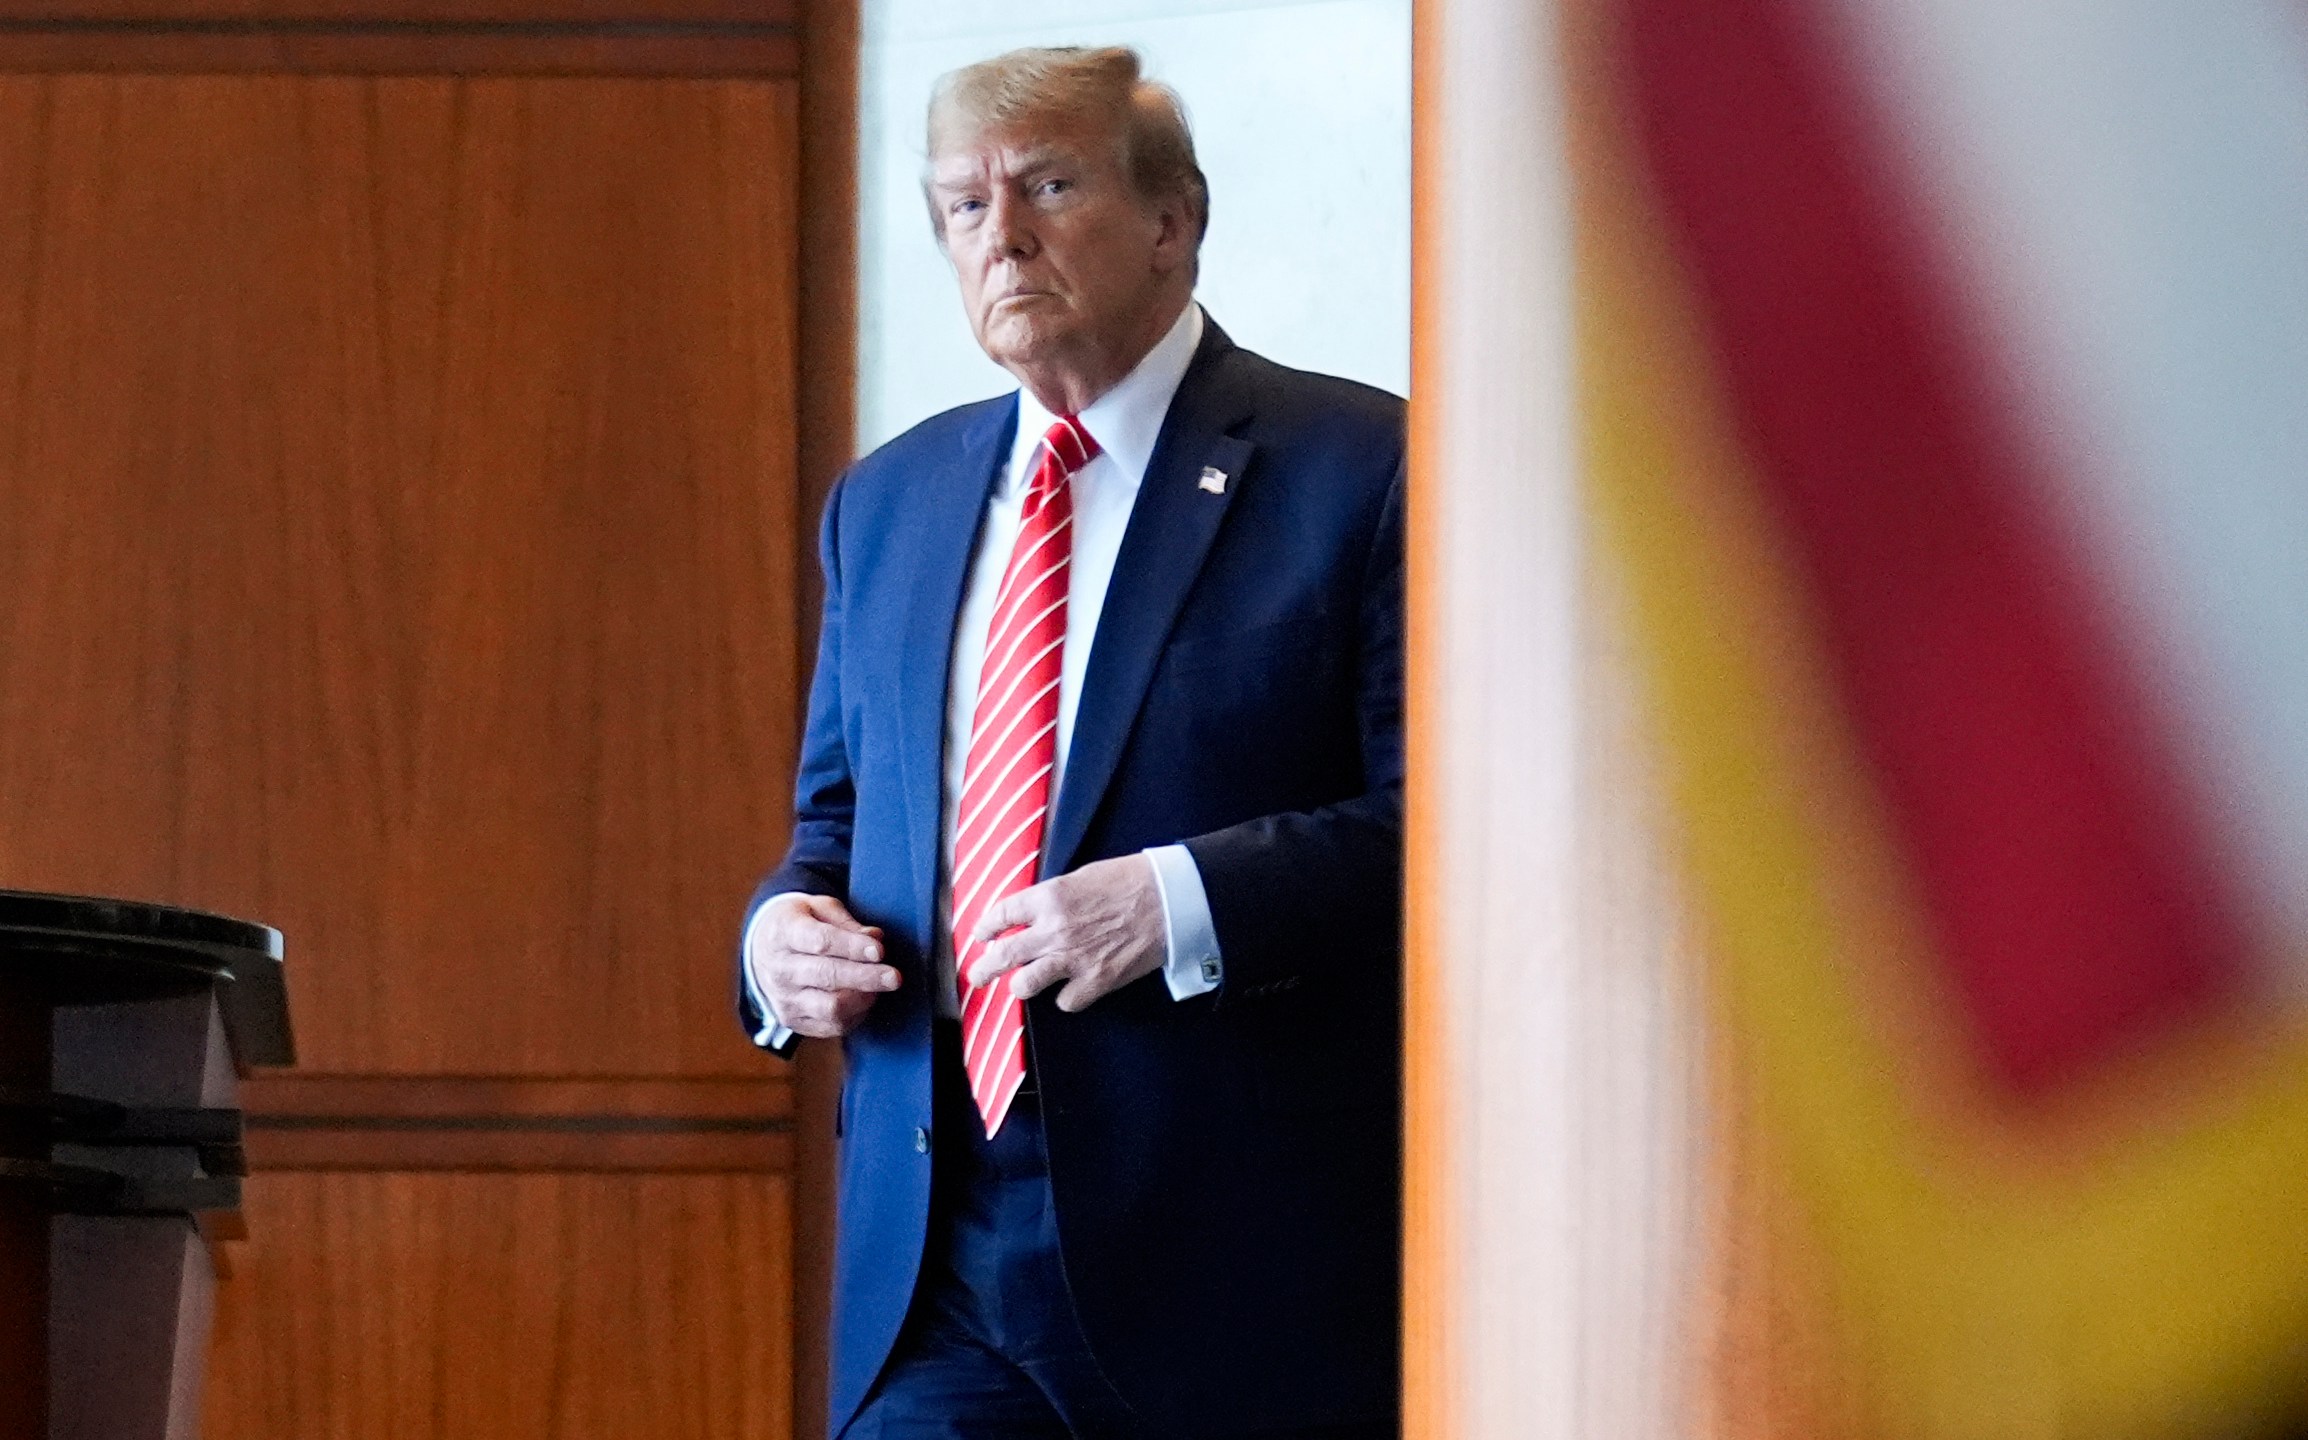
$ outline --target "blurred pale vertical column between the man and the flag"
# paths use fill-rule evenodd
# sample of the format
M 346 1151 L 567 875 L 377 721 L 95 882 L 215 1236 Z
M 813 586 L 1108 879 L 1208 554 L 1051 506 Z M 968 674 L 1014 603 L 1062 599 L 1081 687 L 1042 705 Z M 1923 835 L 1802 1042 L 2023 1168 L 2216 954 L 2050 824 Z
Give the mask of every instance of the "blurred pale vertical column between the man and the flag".
M 1581 512 L 1553 5 L 1417 21 L 1406 1433 L 1689 1433 L 1701 1057 Z

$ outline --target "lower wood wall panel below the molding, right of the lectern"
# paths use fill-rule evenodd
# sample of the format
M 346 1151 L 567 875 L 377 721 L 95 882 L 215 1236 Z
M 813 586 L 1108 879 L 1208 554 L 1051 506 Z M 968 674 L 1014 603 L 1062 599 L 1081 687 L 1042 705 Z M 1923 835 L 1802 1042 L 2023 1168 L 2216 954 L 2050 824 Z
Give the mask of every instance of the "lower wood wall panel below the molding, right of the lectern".
M 787 1433 L 782 1177 L 258 1179 L 215 1440 Z

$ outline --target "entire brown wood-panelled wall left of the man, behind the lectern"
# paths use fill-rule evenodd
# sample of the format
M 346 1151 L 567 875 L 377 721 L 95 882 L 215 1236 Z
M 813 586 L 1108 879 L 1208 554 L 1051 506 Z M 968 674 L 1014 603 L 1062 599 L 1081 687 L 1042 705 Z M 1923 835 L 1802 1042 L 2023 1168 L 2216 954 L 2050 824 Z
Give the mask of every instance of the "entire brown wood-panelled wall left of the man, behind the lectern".
M 0 884 L 288 935 L 210 1435 L 792 1426 L 799 53 L 0 14 Z

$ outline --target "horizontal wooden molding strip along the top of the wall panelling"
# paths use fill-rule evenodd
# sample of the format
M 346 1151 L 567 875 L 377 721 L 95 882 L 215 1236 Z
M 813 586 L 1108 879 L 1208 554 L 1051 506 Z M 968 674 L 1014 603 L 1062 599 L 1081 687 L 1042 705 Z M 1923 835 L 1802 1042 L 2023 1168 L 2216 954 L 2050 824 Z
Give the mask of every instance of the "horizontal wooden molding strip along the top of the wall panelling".
M 794 78 L 789 23 L 7 18 L 14 74 L 503 74 Z

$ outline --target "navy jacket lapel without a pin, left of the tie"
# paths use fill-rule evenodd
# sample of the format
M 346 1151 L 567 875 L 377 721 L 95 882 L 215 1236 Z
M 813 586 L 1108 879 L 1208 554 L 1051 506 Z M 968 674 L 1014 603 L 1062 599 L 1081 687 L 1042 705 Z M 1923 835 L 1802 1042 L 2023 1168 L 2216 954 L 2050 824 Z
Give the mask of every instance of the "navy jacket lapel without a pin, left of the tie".
M 937 923 L 937 828 L 944 817 L 946 672 L 953 658 L 953 618 L 986 517 L 986 494 L 1009 459 L 1018 402 L 988 402 L 972 418 L 953 459 L 921 478 L 907 565 L 914 588 L 905 609 L 905 651 L 898 658 L 898 759 L 905 778 L 907 849 L 914 893 L 923 898 L 921 935 L 928 953 Z

